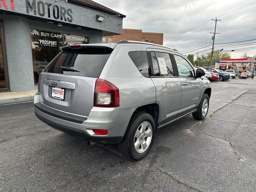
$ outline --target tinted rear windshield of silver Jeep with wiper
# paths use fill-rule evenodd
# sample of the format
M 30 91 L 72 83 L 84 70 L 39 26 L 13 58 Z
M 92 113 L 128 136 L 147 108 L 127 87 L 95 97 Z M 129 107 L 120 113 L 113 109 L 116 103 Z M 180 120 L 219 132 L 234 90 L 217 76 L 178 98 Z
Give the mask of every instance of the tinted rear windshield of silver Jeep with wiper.
M 44 72 L 98 78 L 110 56 L 110 48 L 66 49 L 44 69 Z

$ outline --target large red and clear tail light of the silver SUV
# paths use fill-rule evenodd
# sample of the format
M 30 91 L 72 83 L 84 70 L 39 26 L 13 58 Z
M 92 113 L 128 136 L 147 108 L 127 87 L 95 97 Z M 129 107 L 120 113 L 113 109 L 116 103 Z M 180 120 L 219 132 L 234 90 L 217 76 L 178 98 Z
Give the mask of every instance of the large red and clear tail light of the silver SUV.
M 104 79 L 97 79 L 94 107 L 119 107 L 119 89 Z

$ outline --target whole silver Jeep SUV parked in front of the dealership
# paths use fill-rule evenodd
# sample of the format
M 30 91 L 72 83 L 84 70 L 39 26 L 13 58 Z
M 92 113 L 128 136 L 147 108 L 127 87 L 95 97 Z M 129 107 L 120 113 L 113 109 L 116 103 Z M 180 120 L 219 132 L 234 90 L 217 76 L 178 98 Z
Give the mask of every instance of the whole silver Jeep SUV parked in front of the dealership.
M 175 49 L 126 40 L 61 49 L 34 97 L 36 116 L 55 129 L 140 160 L 160 128 L 206 117 L 210 82 Z

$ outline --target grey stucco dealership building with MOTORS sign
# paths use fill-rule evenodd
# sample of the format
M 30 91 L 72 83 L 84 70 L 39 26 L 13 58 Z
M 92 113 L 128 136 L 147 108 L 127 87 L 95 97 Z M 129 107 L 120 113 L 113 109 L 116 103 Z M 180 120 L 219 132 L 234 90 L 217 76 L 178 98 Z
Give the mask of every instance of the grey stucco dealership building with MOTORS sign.
M 36 89 L 61 46 L 122 34 L 123 18 L 91 0 L 0 0 L 0 92 Z

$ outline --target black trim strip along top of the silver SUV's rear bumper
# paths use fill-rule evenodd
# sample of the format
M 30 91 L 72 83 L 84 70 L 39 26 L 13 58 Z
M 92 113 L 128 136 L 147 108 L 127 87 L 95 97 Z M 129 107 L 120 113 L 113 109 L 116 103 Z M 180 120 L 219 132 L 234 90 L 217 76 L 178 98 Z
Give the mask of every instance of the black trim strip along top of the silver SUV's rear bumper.
M 81 116 L 76 116 L 76 115 L 72 115 L 72 114 L 67 114 L 58 110 L 55 110 L 53 108 L 47 107 L 44 104 L 38 102 L 34 104 L 35 108 L 37 108 L 38 110 L 44 112 L 45 114 L 48 114 L 50 116 L 59 118 L 59 119 L 63 119 L 66 121 L 70 121 L 70 122 L 74 122 L 74 123 L 82 123 L 85 120 L 87 120 L 86 117 L 81 117 Z

